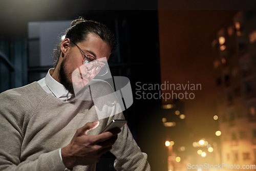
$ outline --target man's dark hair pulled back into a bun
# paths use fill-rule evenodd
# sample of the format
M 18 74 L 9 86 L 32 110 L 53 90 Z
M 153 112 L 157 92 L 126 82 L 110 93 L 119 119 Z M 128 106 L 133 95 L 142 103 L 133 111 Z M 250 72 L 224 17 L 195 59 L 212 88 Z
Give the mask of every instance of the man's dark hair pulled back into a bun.
M 85 20 L 82 17 L 73 20 L 71 27 L 67 29 L 65 38 L 69 38 L 71 42 L 77 44 L 78 42 L 87 39 L 89 33 L 93 33 L 99 36 L 103 41 L 105 41 L 111 48 L 111 53 L 116 48 L 116 39 L 114 34 L 103 24 L 95 22 L 93 20 Z M 54 49 L 53 59 L 55 65 L 57 65 L 58 58 L 60 55 L 60 45 L 61 42 Z

